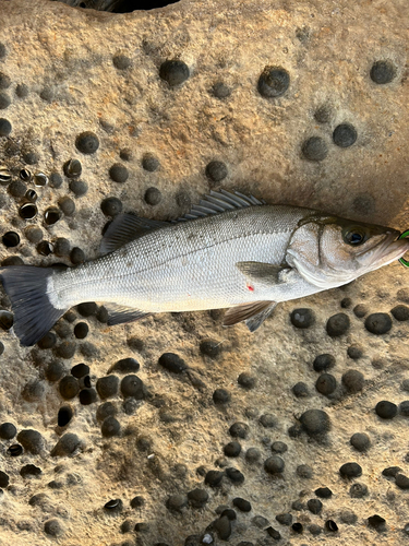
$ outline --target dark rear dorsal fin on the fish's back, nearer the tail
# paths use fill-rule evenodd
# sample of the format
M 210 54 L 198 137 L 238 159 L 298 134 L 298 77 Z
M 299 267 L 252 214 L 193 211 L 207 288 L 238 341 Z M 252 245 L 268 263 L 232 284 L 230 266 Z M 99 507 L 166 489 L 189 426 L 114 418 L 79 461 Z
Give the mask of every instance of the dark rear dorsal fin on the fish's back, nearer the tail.
M 152 229 L 168 226 L 168 222 L 159 222 L 157 219 L 141 218 L 136 214 L 124 213 L 116 216 L 107 232 L 104 235 L 100 244 L 100 252 L 107 254 L 127 242 L 137 239 Z

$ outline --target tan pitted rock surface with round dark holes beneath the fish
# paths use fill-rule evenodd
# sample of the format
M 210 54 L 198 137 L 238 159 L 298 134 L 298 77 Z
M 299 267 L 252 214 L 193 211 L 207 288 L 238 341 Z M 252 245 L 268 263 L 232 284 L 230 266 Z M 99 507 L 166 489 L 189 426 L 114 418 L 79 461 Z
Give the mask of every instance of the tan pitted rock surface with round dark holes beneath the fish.
M 404 0 L 182 0 L 129 14 L 2 1 L 0 164 L 12 180 L 0 170 L 0 225 L 20 240 L 9 246 L 17 239 L 8 236 L 2 263 L 72 265 L 74 249 L 93 259 L 111 213 L 173 218 L 218 188 L 405 229 L 408 25 Z M 38 214 L 21 217 L 23 203 L 25 218 L 34 205 Z M 59 240 L 58 258 L 57 239 L 69 241 Z M 408 417 L 399 410 L 385 419 L 375 407 L 405 408 L 409 399 L 408 323 L 390 312 L 409 302 L 407 278 L 394 263 L 280 305 L 254 334 L 222 328 L 218 311 L 108 328 L 96 306 L 67 313 L 33 348 L 2 331 L 0 544 L 182 546 L 190 535 L 192 544 L 269 544 L 279 535 L 325 544 L 336 533 L 337 544 L 370 545 L 378 532 L 402 544 Z M 359 318 L 357 306 L 368 314 Z M 296 328 L 296 309 L 311 309 L 314 321 Z M 348 328 L 330 336 L 338 313 Z M 368 331 L 373 313 L 385 313 L 390 329 Z M 88 325 L 85 337 L 74 333 L 79 322 Z M 218 348 L 212 354 L 203 351 L 208 340 Z M 357 344 L 362 356 L 352 359 Z M 161 366 L 165 353 L 185 367 Z M 335 357 L 328 395 L 315 389 L 313 363 L 323 354 Z M 141 368 L 112 368 L 127 358 Z M 81 363 L 89 372 L 64 400 L 60 382 Z M 111 369 L 116 384 L 136 375 L 139 395 L 113 389 L 101 400 L 94 388 Z M 342 383 L 351 369 L 360 389 Z M 296 397 L 299 382 L 308 395 Z M 215 403 L 220 389 L 224 403 Z M 311 410 L 325 412 L 325 434 L 301 419 Z M 245 434 L 233 439 L 239 425 Z M 20 447 L 22 430 L 38 432 L 29 450 Z M 357 434 L 368 436 L 368 449 L 353 447 Z M 237 456 L 224 450 L 232 440 Z M 279 456 L 274 442 L 287 447 Z M 264 470 L 272 456 L 282 472 Z M 362 468 L 364 498 L 350 494 L 356 478 L 339 471 L 347 463 Z M 389 467 L 399 471 L 383 475 Z M 333 495 L 309 509 L 323 487 Z

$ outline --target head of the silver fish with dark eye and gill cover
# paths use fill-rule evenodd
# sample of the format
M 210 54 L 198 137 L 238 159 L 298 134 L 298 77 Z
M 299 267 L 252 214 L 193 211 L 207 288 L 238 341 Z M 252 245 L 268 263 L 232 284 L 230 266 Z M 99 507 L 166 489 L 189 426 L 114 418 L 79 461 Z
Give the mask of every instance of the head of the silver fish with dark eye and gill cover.
M 409 239 L 398 236 L 389 227 L 314 215 L 293 232 L 286 261 L 314 286 L 341 286 L 401 258 Z

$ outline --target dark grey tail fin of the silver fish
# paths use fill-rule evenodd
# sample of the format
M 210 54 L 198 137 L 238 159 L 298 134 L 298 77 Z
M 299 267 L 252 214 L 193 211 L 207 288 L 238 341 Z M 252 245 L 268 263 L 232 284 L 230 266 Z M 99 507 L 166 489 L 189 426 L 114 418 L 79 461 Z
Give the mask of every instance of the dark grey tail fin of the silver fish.
M 0 269 L 3 287 L 14 313 L 14 332 L 23 346 L 34 345 L 67 311 L 52 305 L 53 288 L 49 283 L 56 272 L 51 268 L 16 265 Z

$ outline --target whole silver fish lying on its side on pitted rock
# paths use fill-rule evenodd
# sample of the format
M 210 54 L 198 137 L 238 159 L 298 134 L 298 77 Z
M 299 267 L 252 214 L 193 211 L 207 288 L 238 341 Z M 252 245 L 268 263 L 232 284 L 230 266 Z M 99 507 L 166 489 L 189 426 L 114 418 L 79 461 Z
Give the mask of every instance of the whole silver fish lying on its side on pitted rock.
M 225 325 L 244 321 L 254 332 L 277 304 L 401 258 L 409 239 L 398 236 L 389 227 L 220 190 L 173 222 L 117 215 L 96 260 L 67 269 L 3 266 L 0 278 L 22 346 L 37 343 L 84 301 L 103 304 L 109 325 L 227 309 Z

